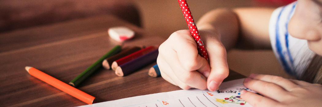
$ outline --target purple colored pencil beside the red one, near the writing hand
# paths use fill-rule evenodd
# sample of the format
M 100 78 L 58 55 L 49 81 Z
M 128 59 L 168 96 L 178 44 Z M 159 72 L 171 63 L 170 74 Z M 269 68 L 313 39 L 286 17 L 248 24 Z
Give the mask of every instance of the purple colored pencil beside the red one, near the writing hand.
M 142 68 L 148 64 L 156 61 L 159 51 L 155 49 L 145 55 L 135 58 L 127 63 L 118 66 L 115 70 L 115 74 L 118 76 L 127 76 L 139 68 Z

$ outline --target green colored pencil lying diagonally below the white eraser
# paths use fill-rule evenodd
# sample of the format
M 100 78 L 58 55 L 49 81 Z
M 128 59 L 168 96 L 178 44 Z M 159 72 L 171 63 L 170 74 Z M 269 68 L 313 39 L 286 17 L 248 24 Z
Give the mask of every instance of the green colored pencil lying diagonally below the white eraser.
M 93 74 L 94 72 L 96 72 L 100 67 L 102 67 L 102 62 L 104 59 L 109 58 L 115 54 L 117 54 L 118 52 L 121 51 L 121 46 L 117 45 L 115 46 L 113 49 L 111 49 L 108 53 L 106 53 L 102 58 L 100 58 L 98 61 L 96 61 L 93 65 L 91 65 L 90 67 L 88 67 L 84 72 L 82 72 L 80 75 L 78 75 L 76 78 L 74 78 L 73 80 L 71 80 L 71 82 L 69 82 L 69 85 L 73 86 L 73 87 L 77 87 L 79 84 L 81 84 L 81 82 L 83 82 L 87 77 L 89 77 L 91 74 Z

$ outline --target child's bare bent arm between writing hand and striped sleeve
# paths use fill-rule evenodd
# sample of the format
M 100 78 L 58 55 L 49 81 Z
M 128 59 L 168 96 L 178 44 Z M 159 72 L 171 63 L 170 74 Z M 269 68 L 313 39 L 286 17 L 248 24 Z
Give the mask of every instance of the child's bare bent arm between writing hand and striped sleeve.
M 201 31 L 219 33 L 219 38 L 226 50 L 234 47 L 269 49 L 268 25 L 273 10 L 267 8 L 216 9 L 206 13 L 197 25 Z

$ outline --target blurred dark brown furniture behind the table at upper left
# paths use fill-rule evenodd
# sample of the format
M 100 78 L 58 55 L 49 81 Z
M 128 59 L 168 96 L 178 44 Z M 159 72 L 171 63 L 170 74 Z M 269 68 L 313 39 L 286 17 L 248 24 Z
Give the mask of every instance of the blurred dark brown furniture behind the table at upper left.
M 1 0 L 0 32 L 106 14 L 141 25 L 131 0 Z

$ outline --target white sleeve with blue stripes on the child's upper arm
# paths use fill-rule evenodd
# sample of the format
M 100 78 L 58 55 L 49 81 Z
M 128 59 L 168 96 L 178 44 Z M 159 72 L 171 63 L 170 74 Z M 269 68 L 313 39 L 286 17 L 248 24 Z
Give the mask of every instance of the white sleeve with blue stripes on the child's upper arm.
M 288 23 L 297 2 L 277 8 L 270 17 L 269 33 L 272 49 L 279 63 L 290 75 L 299 78 L 307 69 L 315 53 L 308 48 L 307 40 L 292 37 Z

